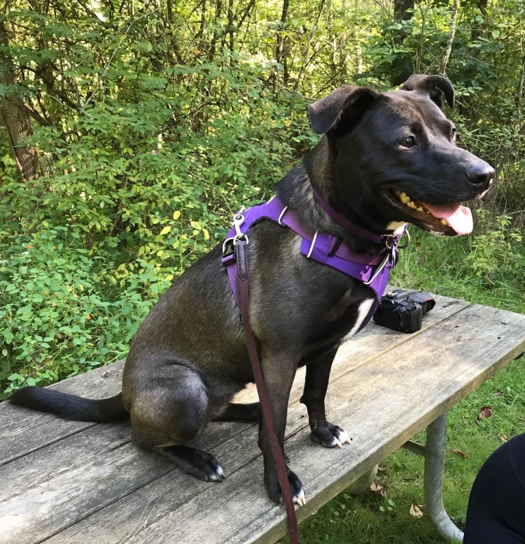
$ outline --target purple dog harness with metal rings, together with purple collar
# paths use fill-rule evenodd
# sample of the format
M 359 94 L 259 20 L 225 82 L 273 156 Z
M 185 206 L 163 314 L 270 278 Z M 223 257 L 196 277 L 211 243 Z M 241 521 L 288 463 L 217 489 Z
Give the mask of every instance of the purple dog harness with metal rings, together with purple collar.
M 237 269 L 236 266 L 232 266 L 235 262 L 234 246 L 237 237 L 245 235 L 249 227 L 261 219 L 269 219 L 277 222 L 283 227 L 288 227 L 302 237 L 301 253 L 307 259 L 312 259 L 318 263 L 335 268 L 335 270 L 344 272 L 348 276 L 352 276 L 352 278 L 361 281 L 361 283 L 374 292 L 375 303 L 372 310 L 369 312 L 369 315 L 363 324 L 361 324 L 361 327 L 359 328 L 359 331 L 361 331 L 361 328 L 363 328 L 369 322 L 371 316 L 374 315 L 374 311 L 376 311 L 376 307 L 384 293 L 384 289 L 387 287 L 390 269 L 393 268 L 397 261 L 400 239 L 403 237 L 404 233 L 407 233 L 406 226 L 400 235 L 376 235 L 354 225 L 339 212 L 332 209 L 315 190 L 314 196 L 319 202 L 319 205 L 321 205 L 328 215 L 336 220 L 341 226 L 368 239 L 370 242 L 383 242 L 384 251 L 382 254 L 373 258 L 367 257 L 366 255 L 358 255 L 337 236 L 328 233 L 319 233 L 317 231 L 314 234 L 306 232 L 303 226 L 298 222 L 293 211 L 282 204 L 277 196 L 273 196 L 273 198 L 270 198 L 270 200 L 265 203 L 236 213 L 232 229 L 228 232 L 223 243 L 222 263 L 225 265 L 226 270 L 228 270 L 230 285 L 232 285 L 235 300 L 237 305 L 239 305 L 239 291 L 236 282 Z

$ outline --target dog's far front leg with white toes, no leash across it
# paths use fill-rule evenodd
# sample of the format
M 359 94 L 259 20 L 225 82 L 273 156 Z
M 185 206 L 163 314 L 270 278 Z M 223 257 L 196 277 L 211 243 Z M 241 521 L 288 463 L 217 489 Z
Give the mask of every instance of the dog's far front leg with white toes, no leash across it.
M 306 365 L 304 392 L 300 399 L 308 410 L 310 437 L 325 448 L 335 448 L 335 446 L 341 448 L 343 444 L 349 444 L 351 441 L 345 430 L 326 421 L 324 399 L 334 357 L 335 350 Z

